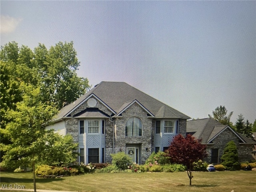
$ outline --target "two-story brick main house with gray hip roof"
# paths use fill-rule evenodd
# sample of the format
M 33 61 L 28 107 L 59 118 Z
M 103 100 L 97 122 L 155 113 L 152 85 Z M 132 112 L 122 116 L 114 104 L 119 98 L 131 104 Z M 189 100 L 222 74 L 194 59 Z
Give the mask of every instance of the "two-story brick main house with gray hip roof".
M 150 154 L 165 150 L 177 134 L 186 135 L 190 117 L 125 82 L 101 82 L 64 106 L 46 129 L 71 134 L 79 162 L 111 162 L 110 154 L 128 154 L 144 164 Z

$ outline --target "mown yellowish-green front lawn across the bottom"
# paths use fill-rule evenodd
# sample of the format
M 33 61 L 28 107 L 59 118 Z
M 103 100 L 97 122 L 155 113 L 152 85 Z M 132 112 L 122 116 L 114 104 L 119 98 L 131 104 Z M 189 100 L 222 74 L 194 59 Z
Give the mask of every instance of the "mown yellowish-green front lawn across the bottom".
M 186 172 L 98 173 L 64 178 L 37 178 L 37 189 L 84 192 L 253 192 L 256 171 L 193 172 L 192 186 Z M 1 172 L 0 185 L 33 188 L 32 173 Z M 1 188 L 2 190 L 2 188 Z M 17 192 L 17 191 L 15 191 Z

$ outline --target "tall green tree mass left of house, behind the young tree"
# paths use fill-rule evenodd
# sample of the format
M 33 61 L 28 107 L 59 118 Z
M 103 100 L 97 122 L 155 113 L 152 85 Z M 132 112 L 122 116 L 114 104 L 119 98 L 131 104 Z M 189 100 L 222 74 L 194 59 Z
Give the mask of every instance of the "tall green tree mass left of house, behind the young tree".
M 39 44 L 34 51 L 9 42 L 1 46 L 0 65 L 0 139 L 4 144 L 10 143 L 4 131 L 6 124 L 16 118 L 8 117 L 8 111 L 16 111 L 16 103 L 23 101 L 22 83 L 39 87 L 39 101 L 57 109 L 64 100 L 71 103 L 90 88 L 88 79 L 76 74 L 80 62 L 73 42 L 59 42 L 49 50 Z M 1 160 L 3 154 L 1 149 Z

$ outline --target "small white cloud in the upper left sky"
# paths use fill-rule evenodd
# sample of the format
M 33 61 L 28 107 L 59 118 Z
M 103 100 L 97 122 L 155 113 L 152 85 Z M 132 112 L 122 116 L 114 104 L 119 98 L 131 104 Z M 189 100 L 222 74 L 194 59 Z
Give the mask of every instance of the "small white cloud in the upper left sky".
M 20 18 L 13 18 L 10 16 L 1 15 L 1 33 L 6 34 L 13 32 L 21 21 L 22 19 Z

